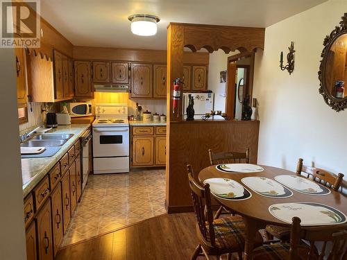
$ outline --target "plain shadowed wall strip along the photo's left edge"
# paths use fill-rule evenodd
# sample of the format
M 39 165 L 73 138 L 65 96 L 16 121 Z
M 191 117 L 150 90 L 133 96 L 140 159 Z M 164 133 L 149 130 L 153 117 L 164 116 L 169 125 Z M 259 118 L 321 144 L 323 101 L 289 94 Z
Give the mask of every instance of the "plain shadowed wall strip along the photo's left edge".
M 26 259 L 15 55 L 0 48 L 0 259 Z

